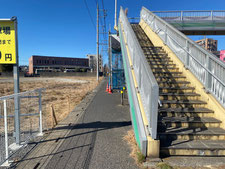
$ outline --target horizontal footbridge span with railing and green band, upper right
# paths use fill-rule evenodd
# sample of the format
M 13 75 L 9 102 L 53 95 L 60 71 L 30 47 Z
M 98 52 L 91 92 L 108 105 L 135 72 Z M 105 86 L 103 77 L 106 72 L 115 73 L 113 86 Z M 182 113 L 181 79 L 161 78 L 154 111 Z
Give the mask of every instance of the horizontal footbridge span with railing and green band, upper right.
M 155 11 L 186 35 L 225 35 L 225 11 Z

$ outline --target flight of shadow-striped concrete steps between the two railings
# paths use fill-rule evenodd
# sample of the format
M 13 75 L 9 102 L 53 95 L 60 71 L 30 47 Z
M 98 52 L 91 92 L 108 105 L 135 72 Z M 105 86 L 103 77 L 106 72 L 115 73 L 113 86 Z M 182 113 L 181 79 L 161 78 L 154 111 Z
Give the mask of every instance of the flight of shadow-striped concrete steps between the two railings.
M 161 46 L 154 46 L 138 24 L 132 24 L 159 84 L 158 136 L 162 156 L 225 155 L 225 130 L 199 93 Z

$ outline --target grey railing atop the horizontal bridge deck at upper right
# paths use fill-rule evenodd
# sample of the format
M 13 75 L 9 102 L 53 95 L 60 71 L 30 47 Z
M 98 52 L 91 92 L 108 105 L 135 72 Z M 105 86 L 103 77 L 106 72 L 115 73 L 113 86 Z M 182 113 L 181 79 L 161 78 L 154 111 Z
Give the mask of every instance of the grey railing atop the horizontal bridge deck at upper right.
M 224 21 L 225 11 L 153 11 L 154 14 L 162 19 L 173 21 Z

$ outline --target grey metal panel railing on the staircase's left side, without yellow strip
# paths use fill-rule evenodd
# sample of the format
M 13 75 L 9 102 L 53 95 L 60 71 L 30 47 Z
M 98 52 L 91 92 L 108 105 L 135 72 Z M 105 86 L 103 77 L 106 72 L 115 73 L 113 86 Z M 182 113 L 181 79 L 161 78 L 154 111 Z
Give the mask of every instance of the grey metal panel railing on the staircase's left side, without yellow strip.
M 148 133 L 150 133 L 151 137 L 156 139 L 159 86 L 122 8 L 120 10 L 120 22 L 123 26 L 125 42 L 127 43 L 130 53 L 130 60 L 128 59 L 126 64 L 127 66 L 130 66 L 130 71 L 134 71 L 134 79 L 131 83 L 136 83 L 137 85 L 136 89 L 132 93 L 140 93 L 144 113 L 148 121 L 148 126 L 145 127 L 147 127 Z M 141 107 L 139 104 L 135 106 Z

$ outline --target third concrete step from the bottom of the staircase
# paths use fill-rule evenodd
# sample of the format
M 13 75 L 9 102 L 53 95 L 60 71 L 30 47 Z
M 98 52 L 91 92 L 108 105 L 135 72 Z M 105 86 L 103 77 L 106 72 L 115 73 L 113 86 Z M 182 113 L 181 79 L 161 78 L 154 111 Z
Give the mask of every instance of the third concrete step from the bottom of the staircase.
M 158 128 L 188 127 L 215 128 L 220 127 L 221 121 L 213 117 L 159 117 Z

